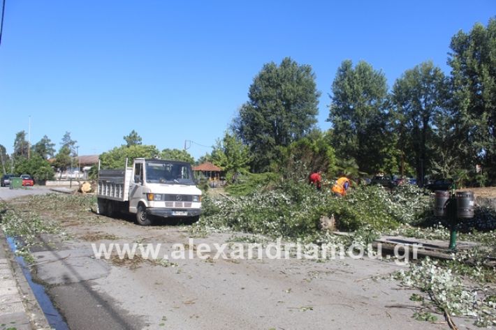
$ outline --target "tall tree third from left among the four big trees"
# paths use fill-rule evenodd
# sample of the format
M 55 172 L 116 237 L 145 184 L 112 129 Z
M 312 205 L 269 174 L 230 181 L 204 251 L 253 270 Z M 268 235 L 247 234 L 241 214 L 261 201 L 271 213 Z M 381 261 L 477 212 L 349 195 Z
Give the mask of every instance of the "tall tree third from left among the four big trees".
M 442 70 L 431 61 L 407 70 L 393 86 L 392 99 L 399 121 L 398 148 L 416 169 L 422 186 L 430 172 L 434 120 L 444 114 L 448 86 Z

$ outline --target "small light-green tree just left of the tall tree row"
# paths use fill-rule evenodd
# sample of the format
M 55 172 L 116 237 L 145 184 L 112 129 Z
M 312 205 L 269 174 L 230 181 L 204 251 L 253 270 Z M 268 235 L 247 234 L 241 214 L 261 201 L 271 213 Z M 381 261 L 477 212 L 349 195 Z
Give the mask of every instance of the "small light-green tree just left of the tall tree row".
M 217 140 L 217 145 L 212 151 L 212 163 L 221 167 L 226 172 L 227 180 L 232 182 L 238 174 L 248 172 L 251 160 L 249 148 L 234 134 L 226 132 L 222 140 Z

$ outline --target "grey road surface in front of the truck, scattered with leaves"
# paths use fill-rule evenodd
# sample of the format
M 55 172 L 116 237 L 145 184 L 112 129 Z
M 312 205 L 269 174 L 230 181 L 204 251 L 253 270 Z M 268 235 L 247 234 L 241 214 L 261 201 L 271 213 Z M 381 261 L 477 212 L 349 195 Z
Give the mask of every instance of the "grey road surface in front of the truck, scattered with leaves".
M 25 198 L 14 204 L 30 207 Z M 174 243 L 194 239 L 194 250 L 233 234 L 195 236 L 187 225 L 140 227 L 129 216 L 56 209 L 38 211 L 64 234 L 43 235 L 32 269 L 70 329 L 448 329 L 412 318 L 416 291 L 389 279 L 405 268 L 391 261 L 97 259 L 92 243 L 160 243 L 163 255 Z

